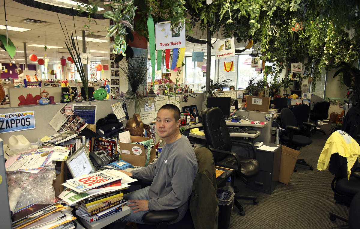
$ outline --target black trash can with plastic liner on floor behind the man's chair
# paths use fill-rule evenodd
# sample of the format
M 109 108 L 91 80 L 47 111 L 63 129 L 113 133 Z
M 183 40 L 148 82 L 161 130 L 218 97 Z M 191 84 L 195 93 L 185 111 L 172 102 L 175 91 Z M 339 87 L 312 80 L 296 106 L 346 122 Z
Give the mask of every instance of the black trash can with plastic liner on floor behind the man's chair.
M 218 229 L 227 229 L 230 224 L 231 208 L 233 207 L 235 193 L 218 188 L 216 193 L 219 199 Z

